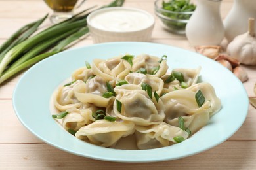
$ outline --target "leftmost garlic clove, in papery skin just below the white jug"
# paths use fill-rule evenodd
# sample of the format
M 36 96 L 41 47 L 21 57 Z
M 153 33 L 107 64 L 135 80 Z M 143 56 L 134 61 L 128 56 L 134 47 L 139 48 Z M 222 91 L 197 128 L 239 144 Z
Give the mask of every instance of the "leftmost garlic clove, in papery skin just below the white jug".
M 196 52 L 213 59 L 221 52 L 221 46 L 196 46 Z

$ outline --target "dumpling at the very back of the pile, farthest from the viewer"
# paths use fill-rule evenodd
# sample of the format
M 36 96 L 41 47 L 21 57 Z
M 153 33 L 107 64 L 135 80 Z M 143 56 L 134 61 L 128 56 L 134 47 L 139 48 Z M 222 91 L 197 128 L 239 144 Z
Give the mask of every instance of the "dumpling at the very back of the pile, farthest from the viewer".
M 141 54 L 133 59 L 133 66 L 131 71 L 137 72 L 141 68 L 146 69 L 147 76 L 152 77 L 161 77 L 165 75 L 166 71 L 168 70 L 168 65 L 166 60 L 162 60 L 161 63 L 159 62 L 161 59 L 155 56 L 150 56 L 148 54 Z M 154 71 L 156 70 L 157 71 Z

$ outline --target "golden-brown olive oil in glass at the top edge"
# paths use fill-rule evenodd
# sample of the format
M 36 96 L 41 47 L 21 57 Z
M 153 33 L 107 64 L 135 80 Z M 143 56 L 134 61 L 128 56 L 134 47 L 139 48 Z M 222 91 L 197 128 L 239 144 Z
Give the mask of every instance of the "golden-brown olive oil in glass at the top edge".
M 71 12 L 77 0 L 44 0 L 54 12 Z

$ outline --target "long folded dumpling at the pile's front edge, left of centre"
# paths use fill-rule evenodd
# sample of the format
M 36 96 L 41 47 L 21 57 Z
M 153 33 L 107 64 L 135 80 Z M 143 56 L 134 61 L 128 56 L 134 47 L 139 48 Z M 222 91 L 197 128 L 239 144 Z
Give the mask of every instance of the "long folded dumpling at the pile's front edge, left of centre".
M 89 139 L 93 144 L 110 147 L 114 146 L 121 137 L 134 133 L 133 122 L 110 122 L 108 120 L 97 120 L 92 124 L 81 127 L 75 137 Z

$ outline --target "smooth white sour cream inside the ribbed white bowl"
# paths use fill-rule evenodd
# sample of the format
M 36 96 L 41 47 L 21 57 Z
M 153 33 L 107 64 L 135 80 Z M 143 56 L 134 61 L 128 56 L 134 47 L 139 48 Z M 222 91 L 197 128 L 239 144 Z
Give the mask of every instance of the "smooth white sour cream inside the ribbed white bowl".
M 96 12 L 89 18 L 89 22 L 104 31 L 131 32 L 150 27 L 154 24 L 154 18 L 143 10 L 123 7 Z

